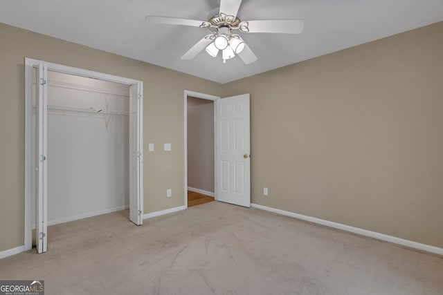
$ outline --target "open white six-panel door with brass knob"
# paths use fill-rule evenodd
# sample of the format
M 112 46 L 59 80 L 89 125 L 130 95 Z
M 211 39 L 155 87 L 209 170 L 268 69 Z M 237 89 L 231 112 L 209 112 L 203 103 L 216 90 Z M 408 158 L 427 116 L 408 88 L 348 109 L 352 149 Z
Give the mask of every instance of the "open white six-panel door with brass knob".
M 215 101 L 217 200 L 251 207 L 249 94 Z

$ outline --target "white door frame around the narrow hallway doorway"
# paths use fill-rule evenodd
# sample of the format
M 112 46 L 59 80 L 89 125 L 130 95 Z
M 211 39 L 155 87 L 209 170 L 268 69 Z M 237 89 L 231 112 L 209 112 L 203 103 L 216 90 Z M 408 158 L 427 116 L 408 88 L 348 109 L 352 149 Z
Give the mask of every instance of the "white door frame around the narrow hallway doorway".
M 185 190 L 184 190 L 184 204 L 185 208 L 188 208 L 188 96 L 197 97 L 201 99 L 208 99 L 215 102 L 217 99 L 221 97 L 215 95 L 209 95 L 206 93 L 198 93 L 195 91 L 184 91 L 183 99 L 184 99 L 184 152 L 185 152 Z M 216 122 L 217 114 L 215 112 L 215 104 L 214 104 L 214 123 Z M 215 160 L 215 139 L 217 138 L 217 128 L 214 124 L 214 200 L 217 200 L 217 161 Z

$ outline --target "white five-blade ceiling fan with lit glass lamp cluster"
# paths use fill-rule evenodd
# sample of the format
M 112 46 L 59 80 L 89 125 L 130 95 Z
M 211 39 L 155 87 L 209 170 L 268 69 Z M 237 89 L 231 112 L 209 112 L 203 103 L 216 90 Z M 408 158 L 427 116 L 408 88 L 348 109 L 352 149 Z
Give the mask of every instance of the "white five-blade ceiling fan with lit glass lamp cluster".
M 300 34 L 303 30 L 304 21 L 301 19 L 266 19 L 255 21 L 241 21 L 237 17 L 242 0 L 220 0 L 219 14 L 211 17 L 208 21 L 196 21 L 193 19 L 179 19 L 176 17 L 159 17 L 148 15 L 145 21 L 150 23 L 163 23 L 179 26 L 195 26 L 208 28 L 210 34 L 203 37 L 181 59 L 189 60 L 197 56 L 206 48 L 206 52 L 217 57 L 221 51 L 223 62 L 238 55 L 245 64 L 251 64 L 257 57 L 238 34 L 267 32 Z

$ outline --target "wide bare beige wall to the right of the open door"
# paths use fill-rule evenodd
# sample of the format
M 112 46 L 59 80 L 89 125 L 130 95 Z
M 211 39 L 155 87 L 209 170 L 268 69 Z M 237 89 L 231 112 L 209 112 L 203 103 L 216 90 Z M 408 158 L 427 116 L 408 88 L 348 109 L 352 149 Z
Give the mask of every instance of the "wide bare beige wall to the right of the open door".
M 226 84 L 251 93 L 252 202 L 443 247 L 442 36 L 443 22 Z

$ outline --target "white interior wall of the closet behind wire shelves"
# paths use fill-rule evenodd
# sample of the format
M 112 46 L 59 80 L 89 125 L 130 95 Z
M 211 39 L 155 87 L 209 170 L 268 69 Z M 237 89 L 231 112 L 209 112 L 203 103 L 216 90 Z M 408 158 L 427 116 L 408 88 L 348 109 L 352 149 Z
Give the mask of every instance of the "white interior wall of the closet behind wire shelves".
M 129 86 L 52 71 L 47 83 L 48 225 L 127 209 Z

